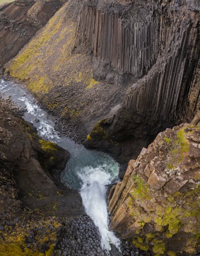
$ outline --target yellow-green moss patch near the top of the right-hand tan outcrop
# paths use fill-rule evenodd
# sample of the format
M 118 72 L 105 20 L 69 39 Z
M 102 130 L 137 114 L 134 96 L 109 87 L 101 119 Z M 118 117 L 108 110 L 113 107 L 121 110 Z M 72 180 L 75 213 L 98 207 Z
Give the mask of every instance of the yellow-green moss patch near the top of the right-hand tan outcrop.
M 189 151 L 189 143 L 185 137 L 187 134 L 186 127 L 182 127 L 177 131 L 175 139 L 164 137 L 167 144 L 172 145 L 172 150 L 168 154 L 167 167 L 170 169 L 176 168 L 183 159 L 186 153 Z

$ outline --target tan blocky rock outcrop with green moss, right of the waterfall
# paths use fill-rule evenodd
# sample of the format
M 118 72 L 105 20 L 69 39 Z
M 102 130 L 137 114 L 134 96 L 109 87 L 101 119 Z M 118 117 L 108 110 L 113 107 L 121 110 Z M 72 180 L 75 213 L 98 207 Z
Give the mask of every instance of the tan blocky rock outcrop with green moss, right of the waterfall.
M 199 253 L 199 129 L 167 129 L 129 162 L 109 194 L 110 227 L 122 239 L 156 255 Z

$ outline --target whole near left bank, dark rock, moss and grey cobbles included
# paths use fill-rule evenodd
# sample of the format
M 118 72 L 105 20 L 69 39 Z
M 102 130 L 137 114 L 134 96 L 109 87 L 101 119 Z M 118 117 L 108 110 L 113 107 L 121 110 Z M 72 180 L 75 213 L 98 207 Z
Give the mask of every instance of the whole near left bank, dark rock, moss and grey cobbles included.
M 103 249 L 99 229 L 85 215 L 79 193 L 54 178 L 69 153 L 42 140 L 34 127 L 22 119 L 23 112 L 10 98 L 1 98 L 3 255 L 150 255 L 133 247 L 131 241 L 122 242 L 121 252 L 113 245 L 110 252 Z

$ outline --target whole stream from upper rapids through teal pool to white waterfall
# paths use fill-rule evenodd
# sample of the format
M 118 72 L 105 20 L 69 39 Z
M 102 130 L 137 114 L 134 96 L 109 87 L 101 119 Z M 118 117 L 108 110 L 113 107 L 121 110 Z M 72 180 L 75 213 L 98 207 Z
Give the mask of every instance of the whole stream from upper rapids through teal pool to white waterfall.
M 106 185 L 117 180 L 119 164 L 106 153 L 85 149 L 67 137 L 60 136 L 54 129 L 53 117 L 42 110 L 27 91 L 12 81 L 0 79 L 2 98 L 11 100 L 24 109 L 23 118 L 31 122 L 45 140 L 56 142 L 70 152 L 70 159 L 61 175 L 61 181 L 79 190 L 85 212 L 93 219 L 101 234 L 101 247 L 107 251 L 114 244 L 120 250 L 120 240 L 109 231 L 106 205 Z

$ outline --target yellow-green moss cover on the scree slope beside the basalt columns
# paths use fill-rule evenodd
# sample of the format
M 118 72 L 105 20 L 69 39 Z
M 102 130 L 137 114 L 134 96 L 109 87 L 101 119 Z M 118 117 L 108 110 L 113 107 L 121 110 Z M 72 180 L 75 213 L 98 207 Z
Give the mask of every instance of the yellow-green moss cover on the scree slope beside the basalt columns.
M 78 118 L 84 106 L 70 106 L 54 94 L 70 85 L 78 85 L 83 94 L 98 84 L 93 78 L 91 58 L 74 53 L 76 23 L 66 16 L 68 3 L 49 20 L 35 37 L 6 65 L 6 72 L 22 81 L 37 94 L 45 106 L 66 118 Z M 69 14 L 70 16 L 70 14 Z M 51 63 L 49 65 L 49 63 Z M 58 91 L 57 90 L 57 93 Z M 62 95 L 60 96 L 62 99 Z

